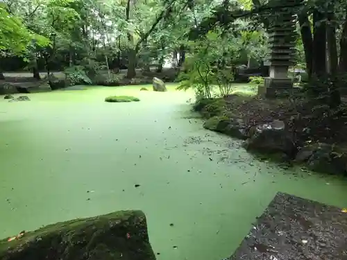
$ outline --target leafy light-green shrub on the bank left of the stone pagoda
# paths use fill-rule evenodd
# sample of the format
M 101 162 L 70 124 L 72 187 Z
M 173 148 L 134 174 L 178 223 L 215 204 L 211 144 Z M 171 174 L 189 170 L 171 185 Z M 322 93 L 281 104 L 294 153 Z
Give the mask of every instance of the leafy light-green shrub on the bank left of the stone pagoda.
M 239 58 L 240 46 L 237 39 L 223 35 L 223 32 L 217 29 L 201 40 L 189 42 L 189 47 L 192 55 L 186 58 L 186 72 L 180 75 L 182 81 L 178 89 L 192 87 L 197 98 L 211 98 L 212 87 L 218 85 L 221 96 L 228 96 L 234 78 L 227 66 L 233 66 Z M 213 65 L 217 66 L 217 69 Z

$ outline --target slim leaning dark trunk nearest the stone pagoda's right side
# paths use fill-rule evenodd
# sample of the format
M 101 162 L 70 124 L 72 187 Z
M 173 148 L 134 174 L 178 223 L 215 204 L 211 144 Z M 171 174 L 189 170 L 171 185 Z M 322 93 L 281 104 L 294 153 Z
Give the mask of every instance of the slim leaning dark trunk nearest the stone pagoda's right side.
M 312 31 L 311 23 L 308 19 L 307 12 L 302 13 L 298 16 L 300 24 L 300 33 L 301 39 L 303 40 L 303 47 L 305 52 L 305 61 L 306 61 L 306 72 L 307 76 L 310 79 L 312 76 L 312 63 L 313 63 L 313 40 L 312 40 Z

